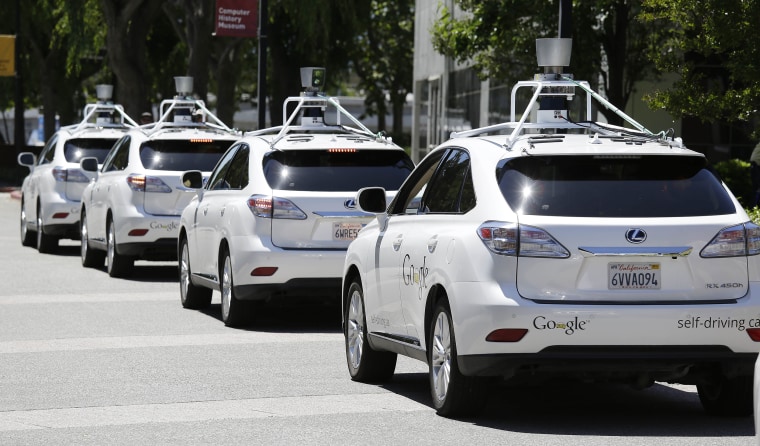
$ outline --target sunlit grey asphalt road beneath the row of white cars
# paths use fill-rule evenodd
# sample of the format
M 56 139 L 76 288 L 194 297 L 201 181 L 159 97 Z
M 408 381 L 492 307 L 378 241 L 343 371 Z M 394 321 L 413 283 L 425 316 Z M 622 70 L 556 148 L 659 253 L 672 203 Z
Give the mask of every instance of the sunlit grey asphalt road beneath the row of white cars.
M 21 246 L 0 193 L 0 444 L 751 445 L 751 417 L 704 414 L 692 386 L 495 388 L 469 420 L 430 407 L 426 366 L 348 377 L 335 307 L 264 310 L 224 327 L 219 295 L 179 303 L 176 265 L 131 279 L 85 269 L 79 245 Z

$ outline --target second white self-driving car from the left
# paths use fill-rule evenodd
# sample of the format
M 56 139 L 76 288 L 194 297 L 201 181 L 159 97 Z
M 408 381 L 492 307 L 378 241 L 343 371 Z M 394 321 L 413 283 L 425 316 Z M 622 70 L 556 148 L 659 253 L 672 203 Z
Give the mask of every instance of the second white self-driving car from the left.
M 127 132 L 99 170 L 94 159 L 81 161 L 82 170 L 97 174 L 79 208 L 85 267 L 105 259 L 110 276 L 124 277 L 135 260 L 175 260 L 179 217 L 195 196 L 182 173 L 208 175 L 240 137 L 189 96 L 192 78 L 176 79 L 179 93 L 162 101 L 157 122 Z

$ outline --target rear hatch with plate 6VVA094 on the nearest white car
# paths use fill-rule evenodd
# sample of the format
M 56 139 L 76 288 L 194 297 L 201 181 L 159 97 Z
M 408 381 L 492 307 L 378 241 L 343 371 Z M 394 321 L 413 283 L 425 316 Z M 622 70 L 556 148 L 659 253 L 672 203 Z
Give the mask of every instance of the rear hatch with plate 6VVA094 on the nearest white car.
M 757 231 L 703 157 L 536 156 L 501 167 L 502 192 L 519 209 L 521 250 L 553 239 L 561 253 L 521 253 L 521 296 L 677 303 L 747 293 L 745 248 Z

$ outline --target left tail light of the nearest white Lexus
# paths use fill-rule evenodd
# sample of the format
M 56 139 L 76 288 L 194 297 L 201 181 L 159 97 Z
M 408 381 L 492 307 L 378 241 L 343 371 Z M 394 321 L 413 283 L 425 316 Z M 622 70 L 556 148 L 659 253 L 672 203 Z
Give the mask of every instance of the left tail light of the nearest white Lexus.
M 567 258 L 570 252 L 548 232 L 533 226 L 489 221 L 478 237 L 492 252 L 505 256 Z

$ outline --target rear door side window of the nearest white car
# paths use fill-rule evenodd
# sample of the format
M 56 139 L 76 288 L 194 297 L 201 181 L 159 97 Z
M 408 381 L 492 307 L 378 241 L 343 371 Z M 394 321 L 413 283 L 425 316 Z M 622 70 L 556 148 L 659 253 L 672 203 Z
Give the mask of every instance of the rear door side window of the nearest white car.
M 452 150 L 427 188 L 421 209 L 426 213 L 466 212 L 472 209 L 474 200 L 470 155 L 464 150 Z

